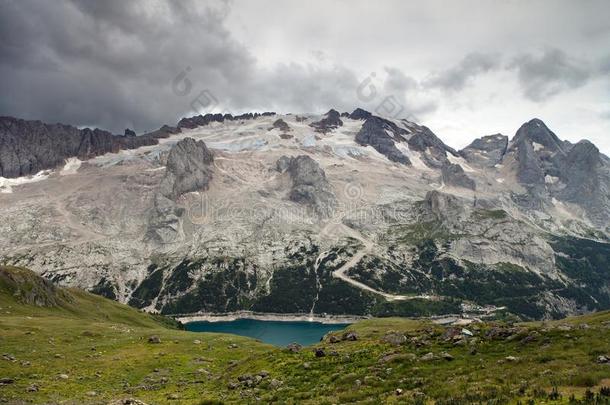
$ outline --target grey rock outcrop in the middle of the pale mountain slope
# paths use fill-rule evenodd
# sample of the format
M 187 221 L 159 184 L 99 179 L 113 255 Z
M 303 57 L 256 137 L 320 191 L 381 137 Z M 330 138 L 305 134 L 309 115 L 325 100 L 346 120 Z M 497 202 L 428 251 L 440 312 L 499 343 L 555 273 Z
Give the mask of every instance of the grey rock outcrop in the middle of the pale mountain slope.
M 291 201 L 309 205 L 322 216 L 332 213 L 336 205 L 336 197 L 318 162 L 306 155 L 295 158 L 283 156 L 278 160 L 277 166 L 278 169 L 285 168 L 290 174 Z

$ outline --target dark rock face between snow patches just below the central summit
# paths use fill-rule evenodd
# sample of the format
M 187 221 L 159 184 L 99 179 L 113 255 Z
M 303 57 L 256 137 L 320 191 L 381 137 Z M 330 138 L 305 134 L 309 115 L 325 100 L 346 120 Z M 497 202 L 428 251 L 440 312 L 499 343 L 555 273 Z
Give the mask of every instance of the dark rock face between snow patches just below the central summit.
M 363 113 L 354 111 L 356 116 L 364 116 Z M 390 135 L 392 134 L 392 135 Z M 385 155 L 392 162 L 410 165 L 411 161 L 397 147 L 396 142 L 405 142 L 407 131 L 398 128 L 395 124 L 374 115 L 369 116 L 364 121 L 362 128 L 356 134 L 356 142 L 360 145 L 371 145 L 382 155 Z

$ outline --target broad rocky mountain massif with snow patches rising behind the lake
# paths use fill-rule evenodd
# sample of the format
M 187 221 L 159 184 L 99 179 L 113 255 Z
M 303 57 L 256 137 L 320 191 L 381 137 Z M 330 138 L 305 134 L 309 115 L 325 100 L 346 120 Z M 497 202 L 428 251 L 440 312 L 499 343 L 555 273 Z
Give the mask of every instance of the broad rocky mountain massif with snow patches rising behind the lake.
M 59 285 L 163 314 L 610 308 L 610 160 L 538 119 L 460 151 L 362 109 L 2 122 L 0 263 Z

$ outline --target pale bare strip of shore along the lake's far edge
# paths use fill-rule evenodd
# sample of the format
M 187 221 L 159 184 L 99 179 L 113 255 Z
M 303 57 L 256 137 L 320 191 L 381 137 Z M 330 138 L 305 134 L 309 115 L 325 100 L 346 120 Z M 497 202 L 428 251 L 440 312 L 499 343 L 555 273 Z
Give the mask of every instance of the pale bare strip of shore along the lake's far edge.
M 280 321 L 280 322 L 320 322 L 324 324 L 354 323 L 362 319 L 363 316 L 355 315 L 313 315 L 309 314 L 276 314 L 261 313 L 252 311 L 236 311 L 226 313 L 201 313 L 201 314 L 181 314 L 173 315 L 174 319 L 182 323 L 191 322 L 227 322 L 237 319 L 253 319 L 257 321 Z

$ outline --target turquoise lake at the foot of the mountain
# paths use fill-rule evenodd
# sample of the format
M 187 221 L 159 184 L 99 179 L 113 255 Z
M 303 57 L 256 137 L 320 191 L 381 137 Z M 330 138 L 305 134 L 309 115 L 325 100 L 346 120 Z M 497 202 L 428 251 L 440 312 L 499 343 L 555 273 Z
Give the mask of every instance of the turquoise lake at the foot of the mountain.
M 232 333 L 259 339 L 276 346 L 296 342 L 311 345 L 320 341 L 326 333 L 345 328 L 349 324 L 327 324 L 304 321 L 258 321 L 236 319 L 223 322 L 191 322 L 185 325 L 191 332 Z

